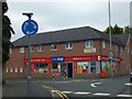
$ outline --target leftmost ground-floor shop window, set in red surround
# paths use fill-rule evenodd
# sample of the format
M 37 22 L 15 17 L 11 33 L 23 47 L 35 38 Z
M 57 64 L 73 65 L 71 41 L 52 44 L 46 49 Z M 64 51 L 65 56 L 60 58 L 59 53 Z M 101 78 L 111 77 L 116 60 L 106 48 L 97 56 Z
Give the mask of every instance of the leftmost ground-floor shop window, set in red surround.
M 47 73 L 48 64 L 47 63 L 34 64 L 34 69 L 35 69 L 36 73 Z

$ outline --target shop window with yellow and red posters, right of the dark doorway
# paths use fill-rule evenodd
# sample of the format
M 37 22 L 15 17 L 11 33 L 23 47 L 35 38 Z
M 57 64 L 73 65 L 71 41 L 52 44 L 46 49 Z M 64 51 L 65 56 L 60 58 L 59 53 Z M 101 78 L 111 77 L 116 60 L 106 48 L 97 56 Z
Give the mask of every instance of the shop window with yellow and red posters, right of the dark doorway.
M 77 63 L 77 74 L 88 73 L 88 62 Z

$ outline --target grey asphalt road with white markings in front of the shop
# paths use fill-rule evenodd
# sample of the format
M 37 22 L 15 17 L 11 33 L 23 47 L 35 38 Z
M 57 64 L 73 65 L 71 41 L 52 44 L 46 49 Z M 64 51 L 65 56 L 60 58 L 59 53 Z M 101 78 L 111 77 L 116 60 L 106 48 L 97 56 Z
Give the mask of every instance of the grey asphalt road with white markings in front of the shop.
M 26 96 L 26 81 L 10 80 L 8 84 L 24 85 L 20 96 Z M 13 86 L 12 88 L 18 88 Z M 3 87 L 3 97 L 13 97 L 15 92 L 9 92 L 9 87 Z M 132 97 L 132 84 L 129 78 L 117 77 L 106 79 L 62 79 L 62 80 L 33 80 L 32 97 L 53 97 L 55 90 L 61 91 L 57 96 L 65 95 L 70 97 Z M 51 94 L 52 92 L 52 94 Z M 23 94 L 23 96 L 22 96 Z

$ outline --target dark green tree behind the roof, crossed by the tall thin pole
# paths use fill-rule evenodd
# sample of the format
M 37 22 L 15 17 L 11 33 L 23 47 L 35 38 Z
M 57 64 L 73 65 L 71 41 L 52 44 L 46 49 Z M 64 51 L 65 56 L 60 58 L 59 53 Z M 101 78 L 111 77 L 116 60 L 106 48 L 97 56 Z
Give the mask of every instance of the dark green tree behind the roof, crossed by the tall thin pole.
M 105 31 L 106 33 L 109 34 L 109 26 L 106 29 Z M 111 26 L 111 34 L 123 34 L 123 28 L 118 26 L 118 24 L 116 24 L 113 28 Z

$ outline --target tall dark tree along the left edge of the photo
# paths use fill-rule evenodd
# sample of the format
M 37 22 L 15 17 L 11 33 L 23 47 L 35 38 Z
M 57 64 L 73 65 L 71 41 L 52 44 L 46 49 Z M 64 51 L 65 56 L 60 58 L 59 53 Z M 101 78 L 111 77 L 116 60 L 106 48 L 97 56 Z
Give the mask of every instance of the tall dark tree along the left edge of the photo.
M 8 3 L 2 2 L 2 72 L 4 75 L 4 66 L 9 57 L 9 48 L 11 46 L 11 34 L 14 34 L 13 29 L 11 28 L 11 21 L 8 18 L 8 15 L 4 15 L 4 13 L 8 11 Z M 2 84 L 4 84 L 4 76 L 2 79 Z

